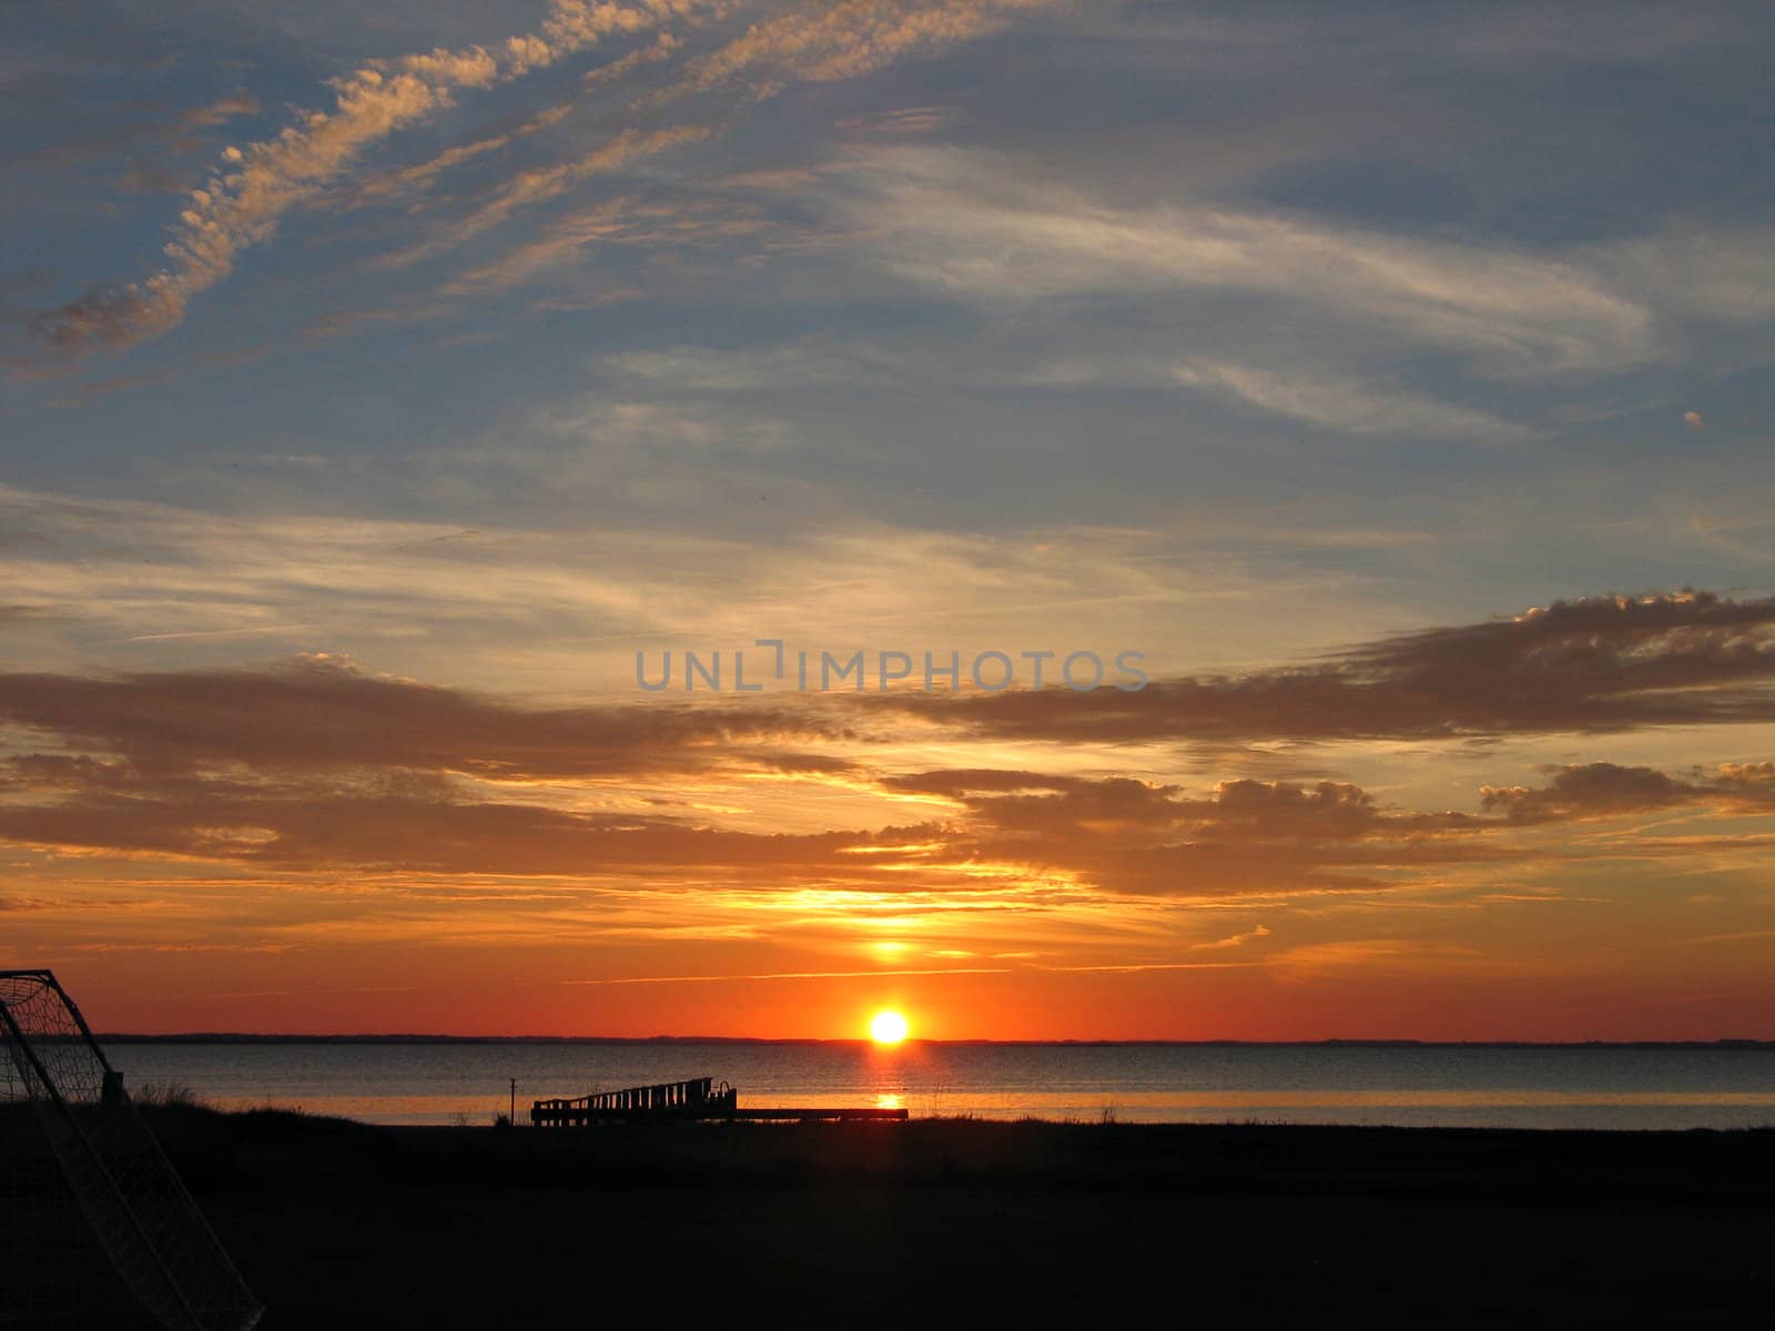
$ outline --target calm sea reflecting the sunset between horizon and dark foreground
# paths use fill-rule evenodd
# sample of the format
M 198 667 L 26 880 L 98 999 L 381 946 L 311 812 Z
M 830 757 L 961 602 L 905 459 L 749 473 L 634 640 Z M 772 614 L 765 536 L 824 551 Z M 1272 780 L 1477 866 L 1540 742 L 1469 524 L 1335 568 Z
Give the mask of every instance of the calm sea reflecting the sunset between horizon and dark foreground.
M 742 1106 L 914 1116 L 1454 1127 L 1775 1125 L 1775 1051 L 857 1044 L 115 1044 L 128 1084 L 222 1107 L 486 1123 L 557 1095 L 715 1077 Z

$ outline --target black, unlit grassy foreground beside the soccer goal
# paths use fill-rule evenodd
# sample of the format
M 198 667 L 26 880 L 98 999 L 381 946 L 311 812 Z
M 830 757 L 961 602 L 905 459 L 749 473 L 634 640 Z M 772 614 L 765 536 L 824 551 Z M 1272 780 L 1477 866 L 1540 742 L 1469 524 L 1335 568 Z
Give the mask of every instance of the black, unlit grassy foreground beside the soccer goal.
M 1775 1320 L 1775 1132 L 154 1127 L 266 1331 Z

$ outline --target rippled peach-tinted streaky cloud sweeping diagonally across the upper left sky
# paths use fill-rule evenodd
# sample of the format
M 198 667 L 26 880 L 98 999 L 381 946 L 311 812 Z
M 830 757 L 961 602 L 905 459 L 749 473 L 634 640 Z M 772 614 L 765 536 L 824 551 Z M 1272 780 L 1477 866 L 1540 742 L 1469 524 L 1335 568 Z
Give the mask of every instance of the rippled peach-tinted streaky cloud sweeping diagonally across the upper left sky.
M 1053 0 L 840 0 L 793 7 L 690 60 L 682 80 L 653 103 L 730 85 L 742 85 L 746 98 L 756 99 L 772 96 L 790 80 L 856 78 L 905 55 L 974 37 L 1017 11 L 1049 4 Z M 552 0 L 540 32 L 518 34 L 492 46 L 440 48 L 366 64 L 334 82 L 330 110 L 309 112 L 275 138 L 224 151 L 222 163 L 202 188 L 192 192 L 179 213 L 165 247 L 169 264 L 162 272 L 124 286 L 94 286 L 76 300 L 34 314 L 30 328 L 44 344 L 67 353 L 119 348 L 160 335 L 185 319 L 192 298 L 229 277 L 243 250 L 270 240 L 286 213 L 321 199 L 369 149 L 430 121 L 451 106 L 458 92 L 520 80 L 612 35 L 635 37 L 671 21 L 724 16 L 731 7 L 730 0 Z M 593 71 L 589 85 L 666 60 L 676 50 L 674 39 L 655 39 L 651 46 Z M 385 176 L 355 199 L 422 186 L 453 165 L 554 124 L 561 114 L 556 108 L 511 135 L 476 140 Z M 501 225 L 520 209 L 566 193 L 589 176 L 719 133 L 719 117 L 669 128 L 625 126 L 575 160 L 520 172 L 467 218 L 394 256 L 390 263 L 433 257 Z

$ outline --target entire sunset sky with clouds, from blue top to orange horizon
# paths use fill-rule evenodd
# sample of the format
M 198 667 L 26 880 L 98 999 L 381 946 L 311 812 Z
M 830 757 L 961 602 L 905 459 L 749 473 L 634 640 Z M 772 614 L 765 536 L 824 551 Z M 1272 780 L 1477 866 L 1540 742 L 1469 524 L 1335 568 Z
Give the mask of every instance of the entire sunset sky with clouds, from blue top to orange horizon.
M 4 23 L 96 1028 L 1775 1038 L 1768 5 Z

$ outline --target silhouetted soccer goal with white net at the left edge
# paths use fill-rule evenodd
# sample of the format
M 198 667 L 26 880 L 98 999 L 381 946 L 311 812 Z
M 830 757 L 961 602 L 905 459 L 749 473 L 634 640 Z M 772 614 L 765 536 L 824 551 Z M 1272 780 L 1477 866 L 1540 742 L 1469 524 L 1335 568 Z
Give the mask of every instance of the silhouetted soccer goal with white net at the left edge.
M 254 1327 L 264 1310 L 50 971 L 0 971 L 0 1327 Z

